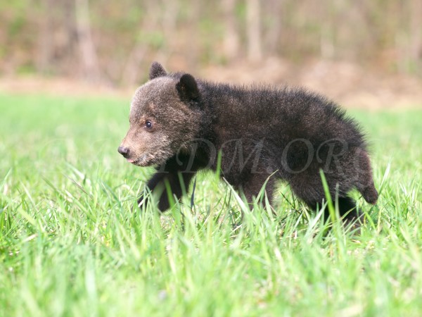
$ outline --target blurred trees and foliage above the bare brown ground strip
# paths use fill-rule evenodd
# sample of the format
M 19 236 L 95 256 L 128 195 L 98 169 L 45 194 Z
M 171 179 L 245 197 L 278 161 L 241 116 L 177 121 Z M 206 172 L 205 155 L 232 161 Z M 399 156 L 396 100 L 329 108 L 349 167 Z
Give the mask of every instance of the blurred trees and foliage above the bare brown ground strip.
M 130 70 L 155 58 L 178 69 L 248 60 L 253 1 L 258 59 L 338 59 L 421 73 L 422 0 L 15 0 L 0 4 L 0 75 L 95 72 L 119 84 L 140 80 Z

